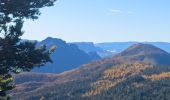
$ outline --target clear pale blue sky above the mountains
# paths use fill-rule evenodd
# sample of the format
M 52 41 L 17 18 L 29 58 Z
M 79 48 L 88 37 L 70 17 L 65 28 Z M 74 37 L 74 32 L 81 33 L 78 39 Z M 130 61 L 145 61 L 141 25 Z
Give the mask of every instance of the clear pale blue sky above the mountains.
M 26 20 L 23 39 L 170 42 L 170 0 L 58 0 Z

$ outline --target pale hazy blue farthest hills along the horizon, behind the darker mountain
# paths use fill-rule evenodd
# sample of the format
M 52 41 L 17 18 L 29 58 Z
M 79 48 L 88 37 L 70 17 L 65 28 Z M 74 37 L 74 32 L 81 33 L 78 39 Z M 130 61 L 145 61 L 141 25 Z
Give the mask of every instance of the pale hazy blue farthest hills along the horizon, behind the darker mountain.
M 104 42 L 96 44 L 93 42 L 73 42 L 71 44 L 77 45 L 79 49 L 85 52 L 97 52 L 100 57 L 106 58 L 116 55 L 133 44 L 138 43 L 151 44 L 170 53 L 170 43 L 166 42 Z

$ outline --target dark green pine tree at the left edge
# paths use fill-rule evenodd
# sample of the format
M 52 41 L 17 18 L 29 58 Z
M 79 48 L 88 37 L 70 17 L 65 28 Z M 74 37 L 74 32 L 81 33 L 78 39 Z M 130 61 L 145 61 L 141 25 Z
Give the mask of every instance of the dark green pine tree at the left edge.
M 39 9 L 53 6 L 56 0 L 0 0 L 0 99 L 14 88 L 12 74 L 30 71 L 52 62 L 45 46 L 21 41 L 24 20 L 38 19 Z M 54 49 L 54 48 L 53 48 Z M 53 50 L 52 49 L 52 50 Z

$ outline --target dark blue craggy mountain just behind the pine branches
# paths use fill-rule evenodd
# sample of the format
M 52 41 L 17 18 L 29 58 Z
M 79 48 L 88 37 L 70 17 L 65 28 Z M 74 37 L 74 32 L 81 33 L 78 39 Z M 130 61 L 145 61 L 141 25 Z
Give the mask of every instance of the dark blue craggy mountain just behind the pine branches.
M 37 44 L 37 46 L 41 45 L 46 45 L 47 48 L 50 48 L 53 45 L 57 46 L 56 51 L 51 55 L 53 63 L 48 63 L 43 67 L 35 68 L 33 72 L 61 73 L 77 68 L 82 64 L 100 59 L 100 56 L 96 52 L 84 52 L 76 45 L 68 44 L 61 39 L 48 37 Z

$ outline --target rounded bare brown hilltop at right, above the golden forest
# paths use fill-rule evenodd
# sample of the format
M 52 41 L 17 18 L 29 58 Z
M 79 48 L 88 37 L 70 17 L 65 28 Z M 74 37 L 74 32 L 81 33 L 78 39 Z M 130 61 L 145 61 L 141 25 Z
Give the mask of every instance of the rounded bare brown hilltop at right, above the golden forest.
M 134 44 L 113 58 L 170 66 L 170 54 L 150 44 Z

